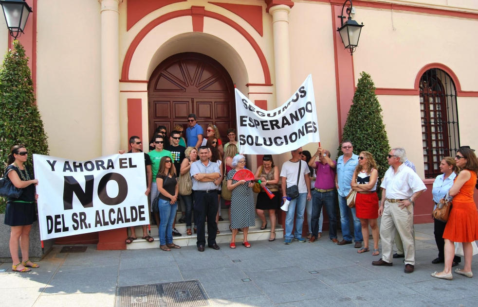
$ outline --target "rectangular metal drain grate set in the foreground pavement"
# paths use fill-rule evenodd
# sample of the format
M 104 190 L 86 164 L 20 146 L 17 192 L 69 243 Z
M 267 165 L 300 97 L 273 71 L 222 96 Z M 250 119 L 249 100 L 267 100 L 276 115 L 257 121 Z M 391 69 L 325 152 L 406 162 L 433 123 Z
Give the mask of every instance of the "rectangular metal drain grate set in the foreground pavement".
M 199 307 L 209 300 L 197 280 L 118 287 L 116 307 Z

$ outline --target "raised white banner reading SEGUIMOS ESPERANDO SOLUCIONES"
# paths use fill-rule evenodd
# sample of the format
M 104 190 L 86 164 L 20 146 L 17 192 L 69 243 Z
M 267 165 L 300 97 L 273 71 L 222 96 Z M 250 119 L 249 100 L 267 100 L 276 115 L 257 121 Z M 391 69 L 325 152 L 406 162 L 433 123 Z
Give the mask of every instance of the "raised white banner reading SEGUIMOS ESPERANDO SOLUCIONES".
M 289 101 L 266 111 L 236 88 L 239 153 L 278 154 L 320 141 L 309 75 Z

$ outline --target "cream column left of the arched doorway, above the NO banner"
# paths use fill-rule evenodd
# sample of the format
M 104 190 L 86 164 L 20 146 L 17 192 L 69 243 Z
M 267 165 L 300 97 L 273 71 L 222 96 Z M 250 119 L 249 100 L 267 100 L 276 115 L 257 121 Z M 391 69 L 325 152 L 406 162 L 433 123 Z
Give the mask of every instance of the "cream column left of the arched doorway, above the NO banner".
M 119 12 L 123 0 L 101 3 L 101 132 L 102 154 L 120 148 L 119 116 Z

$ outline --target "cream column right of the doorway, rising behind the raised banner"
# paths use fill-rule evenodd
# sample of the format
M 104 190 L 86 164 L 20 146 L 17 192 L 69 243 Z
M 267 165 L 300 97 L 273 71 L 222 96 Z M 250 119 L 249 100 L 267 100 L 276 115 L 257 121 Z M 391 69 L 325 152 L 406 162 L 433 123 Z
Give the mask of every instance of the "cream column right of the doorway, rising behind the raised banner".
M 279 4 L 269 9 L 274 31 L 274 62 L 276 68 L 276 106 L 286 102 L 291 92 L 291 56 L 289 51 L 289 13 L 291 8 Z

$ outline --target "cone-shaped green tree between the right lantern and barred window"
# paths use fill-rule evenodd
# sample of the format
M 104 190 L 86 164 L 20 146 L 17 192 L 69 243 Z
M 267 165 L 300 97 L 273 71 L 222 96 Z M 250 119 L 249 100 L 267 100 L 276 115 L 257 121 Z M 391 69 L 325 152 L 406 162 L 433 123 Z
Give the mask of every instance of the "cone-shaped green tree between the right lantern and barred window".
M 347 115 L 342 140 L 351 140 L 356 154 L 362 151 L 370 152 L 377 162 L 379 177 L 383 178 L 388 169 L 386 157 L 390 152 L 382 116 L 383 110 L 375 95 L 375 85 L 370 75 L 362 72 L 360 76 L 353 95 L 353 103 Z M 338 152 L 341 154 L 340 145 Z

